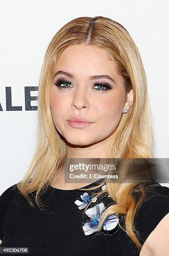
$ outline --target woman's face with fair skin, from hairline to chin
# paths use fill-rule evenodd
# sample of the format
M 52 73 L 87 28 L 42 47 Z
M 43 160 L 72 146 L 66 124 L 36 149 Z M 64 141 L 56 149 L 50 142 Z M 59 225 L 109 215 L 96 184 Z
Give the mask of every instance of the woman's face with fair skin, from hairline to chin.
M 54 75 L 50 110 L 57 131 L 66 141 L 87 146 L 111 138 L 129 102 L 124 105 L 124 81 L 107 52 L 83 44 L 70 46 L 58 59 Z M 101 75 L 105 77 L 99 77 Z M 109 88 L 104 90 L 107 85 Z M 72 127 L 68 120 L 75 116 L 92 123 L 85 128 Z

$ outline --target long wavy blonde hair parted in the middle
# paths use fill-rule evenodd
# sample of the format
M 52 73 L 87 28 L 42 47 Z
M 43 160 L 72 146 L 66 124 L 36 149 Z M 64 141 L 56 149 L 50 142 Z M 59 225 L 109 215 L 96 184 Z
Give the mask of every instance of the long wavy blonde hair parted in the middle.
M 114 61 L 117 71 L 124 79 L 127 93 L 133 89 L 133 105 L 122 115 L 114 137 L 107 151 L 107 158 L 152 158 L 153 122 L 147 92 L 147 78 L 142 59 L 128 31 L 119 23 L 102 16 L 80 17 L 68 22 L 50 41 L 42 64 L 38 94 L 37 147 L 30 166 L 17 187 L 32 205 L 29 193 L 37 191 L 35 202 L 40 207 L 40 195 L 50 185 L 55 174 L 63 167 L 66 159 L 66 141 L 59 135 L 50 111 L 50 88 L 58 58 L 69 46 L 84 44 L 104 49 Z M 95 189 L 105 184 L 92 187 Z M 138 184 L 137 184 L 138 185 Z M 90 190 L 89 189 L 89 190 Z M 80 189 L 83 190 L 83 189 Z M 85 189 L 86 190 L 86 189 Z M 139 200 L 132 192 L 140 192 Z M 96 196 L 108 192 L 116 202 L 102 215 L 98 230 L 108 215 L 122 214 L 128 236 L 137 248 L 141 244 L 135 233 L 134 216 L 145 198 L 144 186 L 136 183 L 107 183 L 107 189 Z M 89 205 L 87 206 L 89 207 Z

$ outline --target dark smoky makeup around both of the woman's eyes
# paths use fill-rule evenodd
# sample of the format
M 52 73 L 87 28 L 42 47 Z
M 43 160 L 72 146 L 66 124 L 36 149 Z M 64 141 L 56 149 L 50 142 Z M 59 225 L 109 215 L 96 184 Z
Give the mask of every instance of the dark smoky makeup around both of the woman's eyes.
M 67 89 L 71 89 L 73 88 L 71 85 L 72 85 L 72 82 L 69 81 L 69 80 L 65 80 L 65 79 L 57 79 L 54 84 L 57 86 L 57 88 L 59 90 L 67 90 Z M 111 90 L 113 87 L 111 84 L 107 83 L 107 82 L 95 82 L 94 84 L 94 87 L 97 87 L 97 88 L 94 88 L 92 87 L 93 90 L 96 90 L 96 91 L 101 91 L 101 92 L 106 92 L 107 90 Z

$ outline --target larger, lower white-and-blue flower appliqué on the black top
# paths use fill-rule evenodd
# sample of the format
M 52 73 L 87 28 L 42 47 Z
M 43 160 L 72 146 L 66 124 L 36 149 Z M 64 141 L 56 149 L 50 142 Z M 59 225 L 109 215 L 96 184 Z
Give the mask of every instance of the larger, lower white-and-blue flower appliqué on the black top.
M 82 226 L 85 235 L 91 235 L 92 233 L 97 231 L 97 226 L 102 218 L 102 213 L 105 210 L 104 203 L 100 203 L 95 205 L 92 208 L 89 208 L 85 211 L 86 215 L 90 218 L 85 225 Z M 112 230 L 118 224 L 118 218 L 116 214 L 112 214 L 106 218 L 103 223 L 103 230 Z

